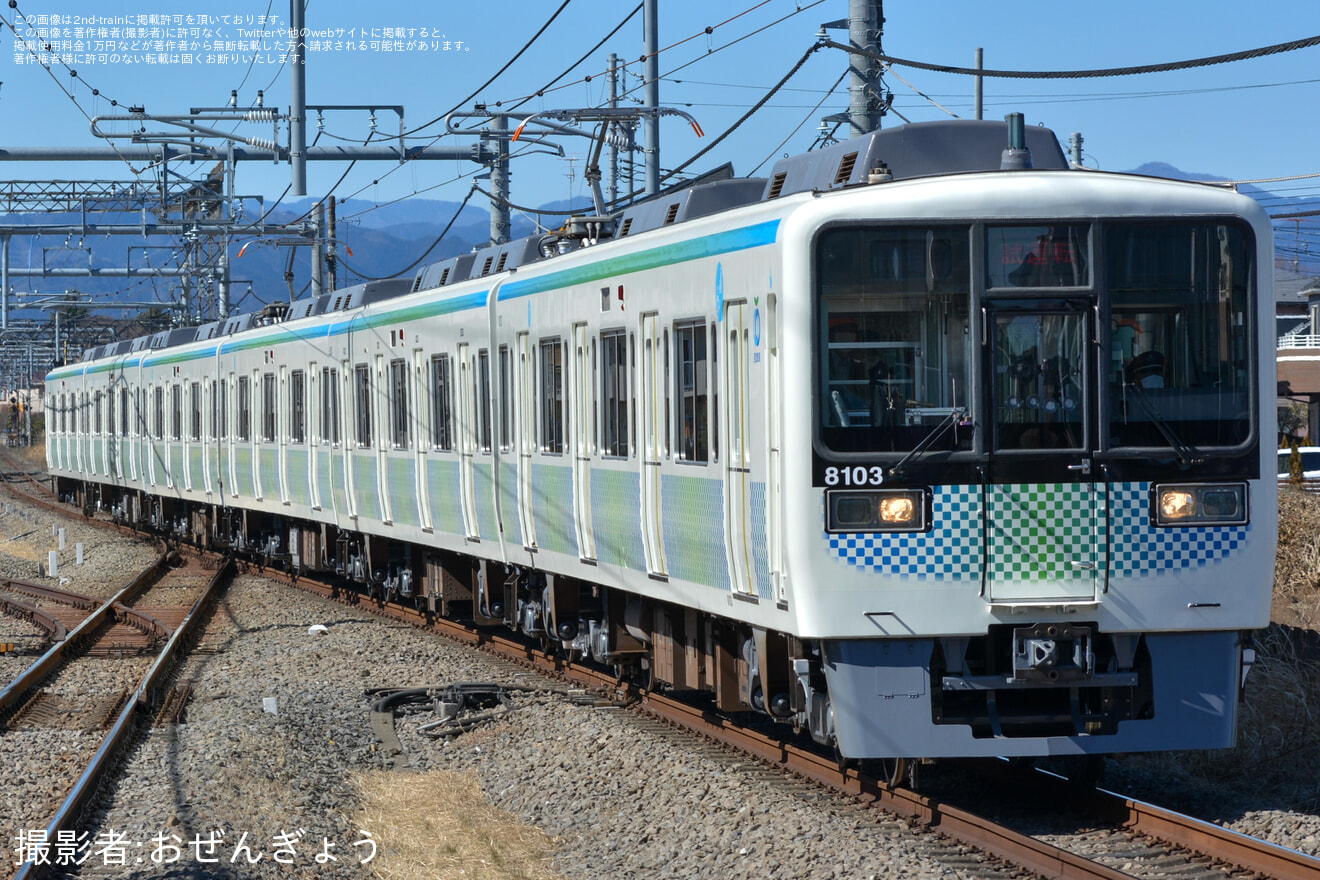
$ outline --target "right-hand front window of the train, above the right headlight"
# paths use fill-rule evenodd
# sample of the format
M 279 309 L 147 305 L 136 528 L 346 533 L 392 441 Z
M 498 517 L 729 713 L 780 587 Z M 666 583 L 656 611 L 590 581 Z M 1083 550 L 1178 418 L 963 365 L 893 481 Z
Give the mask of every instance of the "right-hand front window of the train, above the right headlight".
M 1110 223 L 1107 449 L 1253 435 L 1255 241 L 1241 223 Z

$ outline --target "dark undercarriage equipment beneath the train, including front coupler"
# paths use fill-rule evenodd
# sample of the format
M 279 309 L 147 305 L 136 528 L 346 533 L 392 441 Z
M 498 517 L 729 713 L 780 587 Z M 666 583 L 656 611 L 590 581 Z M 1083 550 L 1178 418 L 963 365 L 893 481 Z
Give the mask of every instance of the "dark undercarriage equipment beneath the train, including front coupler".
M 338 578 L 372 600 L 517 631 L 569 660 L 611 666 L 620 679 L 705 691 L 719 711 L 760 712 L 834 747 L 840 756 L 870 757 L 876 749 L 874 743 L 849 745 L 850 736 L 836 724 L 837 711 L 865 715 L 876 726 L 887 723 L 890 710 L 907 712 L 900 723 L 908 726 L 908 743 L 921 741 L 913 734 L 920 726 L 952 726 L 995 743 L 986 743 L 987 753 L 1012 753 L 995 751 L 1011 740 L 1096 738 L 1093 747 L 1078 749 L 1090 755 L 1123 722 L 1155 712 L 1146 637 L 1109 636 L 1086 623 L 903 640 L 902 649 L 915 661 L 904 666 L 867 660 L 858 666 L 866 685 L 845 686 L 849 679 L 837 670 L 855 664 L 859 648 L 887 654 L 892 643 L 800 640 L 576 578 L 329 524 L 96 483 L 61 480 L 58 489 L 84 511 L 110 512 L 119 522 L 203 549 L 244 555 L 294 577 Z M 832 687 L 838 691 L 833 698 Z M 846 701 L 837 699 L 845 693 Z M 903 760 L 891 761 L 886 776 L 904 774 L 912 759 L 923 756 L 894 757 Z

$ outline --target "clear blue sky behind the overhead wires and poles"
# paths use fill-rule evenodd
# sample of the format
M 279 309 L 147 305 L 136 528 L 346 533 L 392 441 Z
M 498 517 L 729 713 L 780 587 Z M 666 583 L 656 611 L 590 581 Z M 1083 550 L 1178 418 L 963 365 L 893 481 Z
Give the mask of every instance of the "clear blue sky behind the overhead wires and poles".
M 660 45 L 671 46 L 661 55 L 665 79 L 660 90 L 663 104 L 690 112 L 706 132 L 697 139 L 677 119 L 664 123 L 661 164 L 667 168 L 685 161 L 714 136 L 722 133 L 747 107 L 760 99 L 813 44 L 824 21 L 847 15 L 846 0 L 735 0 L 696 3 L 660 0 Z M 342 29 L 367 40 L 371 32 L 387 28 L 412 30 L 408 38 L 426 42 L 449 41 L 449 49 L 413 51 L 347 51 L 333 45 L 309 53 L 306 65 L 308 100 L 322 104 L 403 104 L 409 128 L 445 113 L 492 77 L 532 38 L 561 0 L 506 0 L 504 3 L 412 3 L 375 0 L 371 4 L 342 0 L 309 0 L 308 28 L 315 32 Z M 528 51 L 475 100 L 516 103 L 548 86 L 570 62 L 605 37 L 636 5 L 635 0 L 573 0 Z M 183 25 L 166 22 L 177 37 L 178 26 L 190 26 L 189 16 L 230 16 L 213 30 L 239 40 L 239 24 L 232 18 L 267 15 L 280 24 L 289 17 L 288 0 L 20 0 L 17 12 L 36 21 L 38 16 L 67 16 L 65 30 L 83 26 L 82 16 L 106 18 L 137 16 L 183 16 Z M 1221 0 L 1164 0 L 1137 3 L 1110 0 L 1105 4 L 1005 5 L 979 0 L 890 0 L 883 47 L 887 53 L 917 61 L 972 66 L 974 50 L 985 49 L 985 66 L 1011 70 L 1068 70 L 1121 67 L 1191 59 L 1320 34 L 1320 4 L 1315 0 L 1274 0 L 1254 11 Z M 744 13 L 744 15 L 739 15 Z M 0 15 L 13 24 L 16 11 L 0 7 Z M 49 21 L 49 18 L 48 18 Z M 69 21 L 67 18 L 65 21 Z M 100 26 L 104 26 L 102 24 Z M 115 25 L 111 25 L 115 26 Z M 247 29 L 246 21 L 242 25 Z M 708 26 L 714 28 L 706 34 Z M 438 37 L 436 34 L 440 34 Z M 842 32 L 832 32 L 842 40 Z M 63 34 L 67 36 L 67 34 Z M 123 36 L 123 34 L 121 34 Z M 203 42 L 205 36 L 190 37 Z M 690 40 L 686 40 L 689 38 Z M 86 36 L 84 40 L 95 40 Z M 685 42 L 681 42 L 686 40 Z M 104 61 L 95 46 L 84 47 L 75 61 L 78 77 L 59 66 L 48 73 L 40 65 L 15 62 L 15 36 L 3 32 L 0 53 L 0 144 L 4 146 L 98 146 L 88 131 L 88 116 L 123 112 L 124 106 L 141 104 L 152 113 L 183 113 L 190 106 L 224 104 L 232 88 L 239 88 L 240 104 L 256 100 L 265 91 L 267 106 L 289 103 L 288 67 L 276 54 L 247 63 L 249 51 L 226 51 L 239 58 L 209 58 L 214 47 L 195 51 L 193 63 L 169 61 L 125 63 Z M 211 50 L 209 50 L 211 49 Z M 605 100 L 601 75 L 605 57 L 616 51 L 632 61 L 630 84 L 635 84 L 636 58 L 642 54 L 642 16 L 609 40 L 585 63 L 562 80 L 560 88 L 532 98 L 524 110 L 595 106 Z M 21 51 L 21 49 L 18 50 Z M 86 54 L 92 54 L 87 59 Z M 107 53 L 108 54 L 108 53 Z M 129 49 L 121 54 L 143 54 Z M 166 53 L 172 54 L 172 53 Z M 182 54 L 177 50 L 176 55 Z M 257 53 L 267 55 L 267 53 Z M 1257 179 L 1320 173 L 1316 144 L 1316 98 L 1320 96 L 1320 47 L 1303 49 L 1269 58 L 1243 61 L 1179 73 L 1104 79 L 986 79 L 985 115 L 1001 119 L 1022 111 L 1028 124 L 1053 128 L 1061 139 L 1080 131 L 1085 137 L 1086 164 L 1109 170 L 1126 170 L 1147 161 L 1168 161 L 1188 172 L 1216 174 L 1232 179 Z M 833 95 L 830 86 L 843 70 L 846 57 L 834 50 L 817 51 L 770 104 L 742 125 L 693 169 L 731 161 L 739 174 L 758 169 L 764 174 L 774 157 L 801 152 L 817 137 L 820 116 L 846 108 L 846 80 Z M 966 77 L 944 75 L 895 67 L 886 78 L 895 96 L 895 110 L 921 121 L 948 115 L 973 115 L 973 84 Z M 585 82 L 586 75 L 590 82 Z M 902 80 L 899 79 L 902 77 Z M 907 80 L 906 83 L 903 80 Z M 99 90 L 92 95 L 91 88 Z M 69 90 L 77 103 L 66 96 Z M 917 94 L 921 92 L 921 94 Z M 639 92 L 634 92 L 638 94 Z M 120 107 L 112 107 L 110 99 Z M 821 103 L 821 110 L 813 107 Z M 470 106 L 470 104 L 469 104 Z M 890 116 L 886 125 L 902 120 Z M 392 113 L 378 115 L 378 135 L 397 135 Z M 271 127 L 249 125 L 242 133 L 269 137 Z M 309 140 L 317 133 L 317 120 L 309 120 Z M 326 113 L 321 144 L 362 142 L 371 133 L 364 112 Z M 441 124 L 418 133 L 426 142 Z M 796 133 L 795 133 L 796 132 Z M 282 132 L 281 132 L 282 136 Z M 471 142 L 469 136 L 446 137 L 447 144 Z M 123 141 L 120 141 L 123 142 Z M 523 204 L 581 195 L 583 158 L 589 144 L 583 139 L 562 139 L 560 144 L 574 161 L 533 154 L 515 161 L 512 199 Z M 471 162 L 363 162 L 342 182 L 346 164 L 318 162 L 309 168 L 308 191 L 323 195 L 334 187 L 339 198 L 396 199 L 412 193 L 425 198 L 458 201 L 477 170 Z M 141 169 L 137 169 L 141 172 Z M 201 173 L 202 166 L 194 172 Z M 121 164 L 9 164 L 0 179 L 96 178 L 128 179 L 131 169 Z M 144 172 L 147 179 L 150 172 Z M 375 181 L 375 182 L 374 182 Z M 246 162 L 239 166 L 238 190 L 279 197 L 289 182 L 286 166 Z M 1309 195 L 1320 178 L 1271 183 L 1283 195 Z

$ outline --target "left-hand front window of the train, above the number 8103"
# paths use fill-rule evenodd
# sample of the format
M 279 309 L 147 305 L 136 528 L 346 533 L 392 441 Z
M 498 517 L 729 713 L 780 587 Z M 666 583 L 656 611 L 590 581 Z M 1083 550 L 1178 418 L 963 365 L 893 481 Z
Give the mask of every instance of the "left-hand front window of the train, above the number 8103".
M 816 412 L 826 447 L 970 449 L 969 243 L 965 226 L 820 235 Z

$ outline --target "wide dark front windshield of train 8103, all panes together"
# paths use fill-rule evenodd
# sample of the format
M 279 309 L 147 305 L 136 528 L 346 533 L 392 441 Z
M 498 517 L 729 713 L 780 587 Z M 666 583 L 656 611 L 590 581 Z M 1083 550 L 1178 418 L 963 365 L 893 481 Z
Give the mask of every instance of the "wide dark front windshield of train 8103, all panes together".
M 1255 437 L 1254 249 L 1221 219 L 829 228 L 820 442 L 1184 464 L 1241 451 Z

